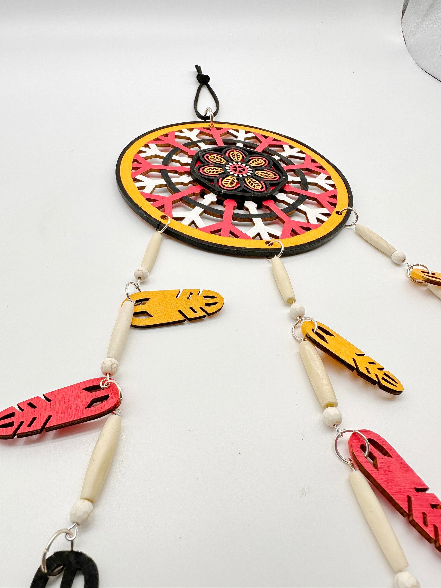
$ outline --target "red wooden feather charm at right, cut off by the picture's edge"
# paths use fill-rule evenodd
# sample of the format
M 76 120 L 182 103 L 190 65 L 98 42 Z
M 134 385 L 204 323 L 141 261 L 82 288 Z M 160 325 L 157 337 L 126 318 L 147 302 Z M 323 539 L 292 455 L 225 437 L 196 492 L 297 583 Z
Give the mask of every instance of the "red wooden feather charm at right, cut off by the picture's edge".
M 427 492 L 429 487 L 383 437 L 365 429 L 360 432 L 369 441 L 368 457 L 359 435 L 352 434 L 349 439 L 350 454 L 360 471 L 417 532 L 441 551 L 441 500 Z

